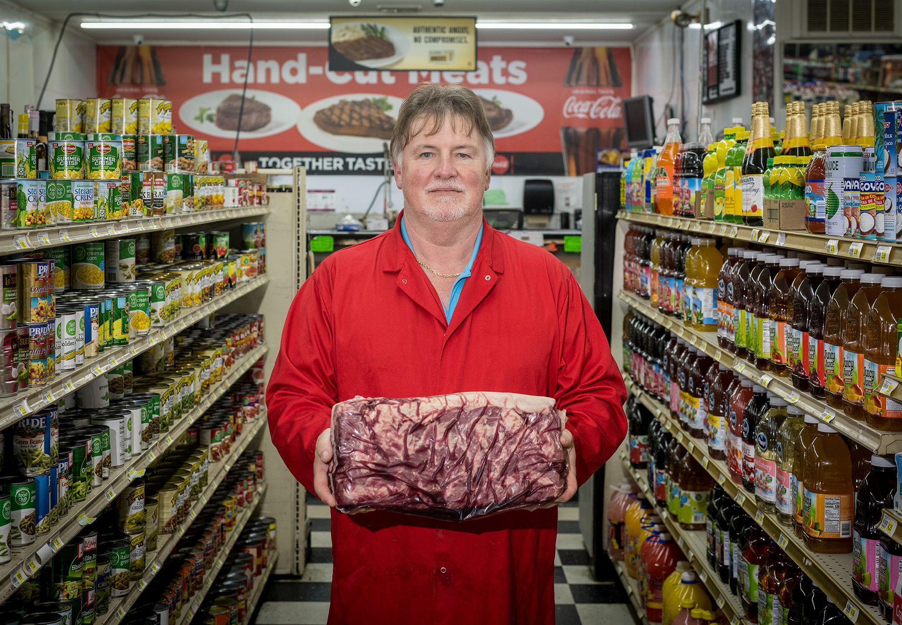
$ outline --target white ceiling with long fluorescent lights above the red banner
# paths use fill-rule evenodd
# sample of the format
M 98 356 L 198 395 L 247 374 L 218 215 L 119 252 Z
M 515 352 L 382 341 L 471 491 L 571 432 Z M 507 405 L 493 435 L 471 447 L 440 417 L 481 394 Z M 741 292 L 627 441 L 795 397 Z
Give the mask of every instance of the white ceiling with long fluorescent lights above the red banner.
M 292 20 L 327 19 L 330 15 L 369 15 L 382 13 L 383 7 L 407 6 L 419 7 L 410 15 L 475 15 L 483 20 L 528 20 L 528 21 L 591 21 L 591 22 L 630 22 L 634 28 L 630 31 L 498 31 L 481 30 L 479 41 L 483 44 L 527 42 L 538 45 L 562 44 L 563 36 L 572 35 L 575 44 L 605 43 L 633 41 L 649 26 L 657 23 L 675 8 L 675 0 L 444 0 L 443 7 L 435 5 L 436 0 L 360 0 L 361 5 L 352 7 L 348 0 L 227 0 L 226 14 L 251 13 L 257 20 Z M 44 15 L 51 20 L 61 22 L 72 11 L 81 13 L 103 13 L 117 16 L 140 14 L 216 14 L 213 11 L 214 0 L 179 0 L 164 2 L 162 0 L 132 0 L 127 3 L 129 10 L 123 11 L 122 0 L 84 0 L 73 3 L 71 0 L 41 0 L 40 3 L 27 3 L 27 9 Z M 21 3 L 21 0 L 20 0 Z M 26 3 L 21 3 L 26 8 Z M 554 11 L 548 11 L 549 5 Z M 222 14 L 220 14 L 222 15 Z M 78 18 L 73 18 L 71 25 L 78 28 Z M 246 32 L 218 32 L 215 30 L 185 31 L 145 31 L 135 27 L 129 31 L 87 31 L 80 32 L 98 42 L 131 42 L 133 34 L 142 33 L 148 43 L 176 43 L 209 41 L 246 41 Z M 326 31 L 270 31 L 257 30 L 254 41 L 325 44 Z

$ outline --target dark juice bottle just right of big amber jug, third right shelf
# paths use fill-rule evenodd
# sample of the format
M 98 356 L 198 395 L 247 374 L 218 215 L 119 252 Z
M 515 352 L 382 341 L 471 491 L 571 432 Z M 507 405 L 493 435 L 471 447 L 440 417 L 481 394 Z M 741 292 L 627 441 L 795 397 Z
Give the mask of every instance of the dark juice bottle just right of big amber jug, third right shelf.
M 852 590 L 862 602 L 879 602 L 880 519 L 884 508 L 893 507 L 896 494 L 896 463 L 892 456 L 871 455 L 870 473 L 855 498 L 852 525 Z

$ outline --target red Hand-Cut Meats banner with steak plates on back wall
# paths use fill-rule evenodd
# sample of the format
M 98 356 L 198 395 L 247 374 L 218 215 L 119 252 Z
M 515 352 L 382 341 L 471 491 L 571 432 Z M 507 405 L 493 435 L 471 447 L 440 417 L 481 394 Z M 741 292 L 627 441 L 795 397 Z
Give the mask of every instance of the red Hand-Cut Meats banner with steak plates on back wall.
M 334 72 L 326 48 L 98 46 L 100 97 L 163 97 L 172 128 L 235 145 L 262 167 L 381 173 L 382 144 L 403 98 L 423 81 L 461 84 L 483 98 L 496 173 L 581 174 L 596 153 L 621 148 L 621 98 L 630 96 L 629 48 L 479 49 L 474 72 Z M 325 152 L 329 155 L 326 156 Z

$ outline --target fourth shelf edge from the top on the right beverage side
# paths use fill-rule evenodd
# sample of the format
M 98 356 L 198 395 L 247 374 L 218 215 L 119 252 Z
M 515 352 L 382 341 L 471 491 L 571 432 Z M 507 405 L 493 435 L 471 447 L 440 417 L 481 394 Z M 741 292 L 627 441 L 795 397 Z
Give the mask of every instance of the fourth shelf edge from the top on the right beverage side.
M 676 520 L 667 514 L 667 510 L 661 510 L 655 504 L 655 495 L 649 489 L 649 481 L 645 473 L 632 468 L 625 452 L 621 452 L 621 462 L 623 463 L 623 470 L 629 473 L 633 481 L 639 485 L 641 491 L 645 493 L 645 498 L 654 506 L 655 511 L 658 512 L 658 515 L 664 521 L 667 531 L 676 539 L 676 544 L 683 550 L 686 559 L 695 569 L 695 573 L 698 574 L 698 578 L 702 580 L 702 583 L 708 589 L 708 593 L 713 597 L 715 605 L 723 610 L 723 613 L 730 619 L 731 625 L 739 625 L 740 623 L 741 625 L 749 625 L 750 621 L 744 617 L 739 597 L 734 596 L 730 592 L 728 584 L 721 582 L 720 576 L 713 570 L 707 556 L 705 556 L 706 538 L 704 531 L 681 528 L 676 523 Z

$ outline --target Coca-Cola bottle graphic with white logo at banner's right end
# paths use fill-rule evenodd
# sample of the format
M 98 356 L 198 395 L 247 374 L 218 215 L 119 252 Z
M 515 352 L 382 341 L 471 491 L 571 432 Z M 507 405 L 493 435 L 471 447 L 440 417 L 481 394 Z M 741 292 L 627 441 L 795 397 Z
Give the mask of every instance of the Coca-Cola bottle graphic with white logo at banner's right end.
M 564 77 L 561 112 L 561 151 L 566 175 L 592 172 L 600 149 L 622 147 L 623 87 L 612 49 L 573 51 Z M 611 164 L 616 164 L 619 155 L 617 152 L 612 155 Z

